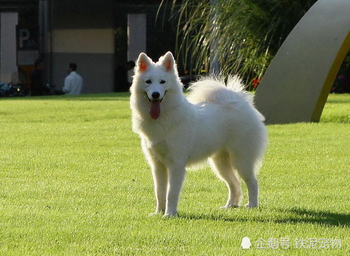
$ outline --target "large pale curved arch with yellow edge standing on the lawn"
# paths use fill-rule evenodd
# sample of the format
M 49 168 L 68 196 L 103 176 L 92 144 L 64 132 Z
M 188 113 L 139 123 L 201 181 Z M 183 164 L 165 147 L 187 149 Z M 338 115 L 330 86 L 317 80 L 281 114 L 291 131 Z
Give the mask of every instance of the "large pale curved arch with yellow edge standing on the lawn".
M 350 0 L 318 0 L 281 45 L 256 91 L 266 123 L 319 121 L 350 49 Z

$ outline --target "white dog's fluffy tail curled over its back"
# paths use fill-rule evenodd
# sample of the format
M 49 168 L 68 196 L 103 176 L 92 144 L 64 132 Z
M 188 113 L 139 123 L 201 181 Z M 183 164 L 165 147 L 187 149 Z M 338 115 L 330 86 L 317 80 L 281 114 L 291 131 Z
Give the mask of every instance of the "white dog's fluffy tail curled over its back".
M 198 103 L 226 103 L 243 100 L 253 104 L 253 95 L 245 91 L 245 86 L 238 76 L 229 76 L 227 82 L 222 76 L 202 77 L 189 87 L 188 100 Z

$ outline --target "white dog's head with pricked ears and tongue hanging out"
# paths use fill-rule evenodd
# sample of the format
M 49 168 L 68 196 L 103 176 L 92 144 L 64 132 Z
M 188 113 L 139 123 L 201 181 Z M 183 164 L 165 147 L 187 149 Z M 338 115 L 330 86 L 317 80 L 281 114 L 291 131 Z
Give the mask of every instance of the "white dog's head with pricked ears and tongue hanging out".
M 153 62 L 145 53 L 140 53 L 135 66 L 131 93 L 145 96 L 149 103 L 152 119 L 160 115 L 160 103 L 166 94 L 179 90 L 179 78 L 173 54 L 168 51 Z

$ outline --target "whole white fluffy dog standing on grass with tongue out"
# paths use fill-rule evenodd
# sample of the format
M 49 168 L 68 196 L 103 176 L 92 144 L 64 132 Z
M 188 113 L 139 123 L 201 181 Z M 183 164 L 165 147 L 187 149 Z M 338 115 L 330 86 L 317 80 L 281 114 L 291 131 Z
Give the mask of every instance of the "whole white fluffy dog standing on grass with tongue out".
M 228 187 L 223 208 L 240 204 L 237 172 L 248 188 L 246 206 L 258 205 L 256 173 L 267 144 L 266 127 L 239 78 L 229 78 L 227 85 L 203 78 L 186 98 L 173 54 L 154 63 L 141 53 L 130 91 L 133 131 L 141 138 L 155 184 L 157 208 L 151 215 L 175 216 L 185 168 L 208 158 Z

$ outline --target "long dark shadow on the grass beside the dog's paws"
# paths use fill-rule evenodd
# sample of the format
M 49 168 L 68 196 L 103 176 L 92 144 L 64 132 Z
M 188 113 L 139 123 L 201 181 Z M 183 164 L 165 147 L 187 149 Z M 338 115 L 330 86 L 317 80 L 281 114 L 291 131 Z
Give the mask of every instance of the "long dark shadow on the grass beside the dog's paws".
M 255 209 L 247 209 L 247 216 L 249 211 Z M 259 211 L 266 211 L 265 209 L 257 209 Z M 234 209 L 230 209 L 232 213 Z M 326 226 L 350 226 L 350 214 L 347 213 L 333 213 L 329 211 L 313 211 L 304 208 L 293 207 L 290 209 L 277 209 L 278 212 L 284 213 L 285 217 L 278 214 L 276 217 L 259 217 L 259 216 L 248 216 L 242 218 L 228 217 L 227 213 L 223 214 L 191 214 L 183 213 L 179 214 L 179 218 L 189 220 L 213 220 L 213 221 L 224 221 L 224 222 L 274 222 L 274 223 L 315 223 Z

